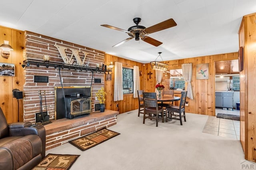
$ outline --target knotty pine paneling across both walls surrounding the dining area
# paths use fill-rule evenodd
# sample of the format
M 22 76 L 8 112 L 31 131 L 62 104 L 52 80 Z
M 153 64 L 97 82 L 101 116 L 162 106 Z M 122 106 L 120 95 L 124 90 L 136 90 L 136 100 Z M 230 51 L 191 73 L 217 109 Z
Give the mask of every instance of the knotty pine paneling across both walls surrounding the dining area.
M 187 99 L 187 101 L 189 101 L 189 105 L 188 107 L 186 107 L 186 112 L 215 116 L 214 62 L 232 59 L 238 59 L 237 52 L 164 61 L 164 63 L 167 63 L 169 65 L 168 69 L 178 69 L 181 68 L 181 65 L 183 63 L 192 63 L 193 74 L 191 83 L 193 88 L 194 100 Z M 123 59 L 120 57 L 106 54 L 105 64 L 109 65 L 110 61 L 113 61 L 113 63 L 115 61 L 121 62 L 123 63 L 123 67 L 133 67 L 133 65 L 138 65 L 140 67 L 140 70 L 142 71 L 142 76 L 140 77 L 140 89 L 143 89 L 146 92 L 155 91 L 156 73 L 153 69 L 151 69 L 150 63 L 142 64 L 128 59 Z M 209 79 L 196 80 L 196 64 L 201 63 L 209 63 Z M 124 95 L 123 101 L 113 101 L 114 70 L 112 74 L 112 81 L 105 81 L 105 89 L 107 91 L 106 109 L 119 111 L 119 113 L 138 109 L 138 100 L 137 98 L 134 99 L 133 95 Z M 164 79 L 165 77 L 163 75 L 163 80 Z M 119 108 L 116 108 L 116 104 L 119 105 Z

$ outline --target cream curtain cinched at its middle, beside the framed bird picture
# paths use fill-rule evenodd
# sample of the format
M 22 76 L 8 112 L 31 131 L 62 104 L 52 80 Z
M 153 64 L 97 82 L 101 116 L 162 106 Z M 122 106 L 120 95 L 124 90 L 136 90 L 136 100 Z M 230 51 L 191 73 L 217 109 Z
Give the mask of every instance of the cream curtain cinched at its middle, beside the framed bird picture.
M 183 72 L 183 77 L 184 80 L 188 83 L 188 88 L 187 88 L 187 97 L 189 99 L 194 99 L 193 96 L 193 90 L 192 90 L 192 85 L 191 85 L 191 79 L 192 79 L 192 63 L 187 63 L 187 64 L 182 64 L 182 72 Z

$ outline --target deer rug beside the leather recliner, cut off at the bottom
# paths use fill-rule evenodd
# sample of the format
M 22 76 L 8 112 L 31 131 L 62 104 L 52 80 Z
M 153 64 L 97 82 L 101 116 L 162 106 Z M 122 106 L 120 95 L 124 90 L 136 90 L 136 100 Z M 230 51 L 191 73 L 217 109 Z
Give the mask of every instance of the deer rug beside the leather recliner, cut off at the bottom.
M 80 155 L 48 154 L 32 170 L 68 170 Z

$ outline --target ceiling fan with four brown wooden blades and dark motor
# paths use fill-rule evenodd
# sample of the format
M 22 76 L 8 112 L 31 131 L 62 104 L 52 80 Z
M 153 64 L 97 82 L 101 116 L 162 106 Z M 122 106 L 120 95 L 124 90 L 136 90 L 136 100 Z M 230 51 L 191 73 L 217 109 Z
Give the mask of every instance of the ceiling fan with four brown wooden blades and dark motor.
M 130 38 L 127 38 L 125 40 L 123 40 L 122 42 L 120 43 L 117 43 L 116 45 L 112 46 L 112 47 L 117 47 L 125 42 L 128 42 L 129 40 L 132 40 L 132 38 L 135 37 L 135 40 L 138 41 L 138 40 L 142 40 L 144 42 L 147 42 L 147 43 L 150 43 L 154 46 L 159 46 L 162 44 L 162 42 L 158 41 L 158 40 L 155 40 L 154 38 L 150 38 L 149 36 L 147 36 L 148 34 L 151 34 L 151 33 L 154 33 L 154 32 L 158 32 L 158 31 L 161 31 L 161 30 L 165 30 L 167 28 L 171 28 L 171 27 L 174 27 L 176 26 L 176 22 L 170 18 L 169 20 L 166 20 L 166 21 L 163 21 L 163 22 L 160 22 L 154 26 L 151 26 L 151 27 L 144 27 L 144 26 L 139 26 L 138 24 L 140 23 L 141 21 L 141 18 L 134 18 L 133 19 L 133 22 L 136 24 L 136 26 L 132 26 L 130 28 L 128 28 L 128 30 L 123 30 L 123 29 L 120 29 L 120 28 L 116 28 L 116 27 L 113 27 L 113 26 L 110 26 L 110 25 L 101 25 L 101 26 L 104 26 L 104 27 L 107 27 L 107 28 L 111 28 L 111 29 L 114 29 L 114 30 L 118 30 L 118 31 L 122 31 L 122 32 L 126 32 L 129 36 L 131 36 Z

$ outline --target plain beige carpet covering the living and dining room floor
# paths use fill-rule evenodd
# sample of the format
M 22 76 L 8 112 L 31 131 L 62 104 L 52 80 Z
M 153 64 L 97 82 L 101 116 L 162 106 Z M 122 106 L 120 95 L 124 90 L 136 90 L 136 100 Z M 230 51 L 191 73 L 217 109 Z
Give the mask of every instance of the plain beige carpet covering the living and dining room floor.
M 129 112 L 128 112 L 129 113 Z M 187 122 L 146 119 L 138 110 L 118 115 L 108 129 L 120 135 L 86 152 L 70 143 L 47 153 L 81 155 L 70 170 L 239 170 L 244 153 L 239 140 L 203 133 L 206 115 L 186 113 Z

